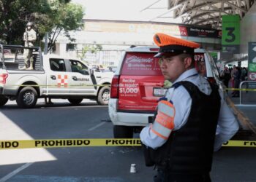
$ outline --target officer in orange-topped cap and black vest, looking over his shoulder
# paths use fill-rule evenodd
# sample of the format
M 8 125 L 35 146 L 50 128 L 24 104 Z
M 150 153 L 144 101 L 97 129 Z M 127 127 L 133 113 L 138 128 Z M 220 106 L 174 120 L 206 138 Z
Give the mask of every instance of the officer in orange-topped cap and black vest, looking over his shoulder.
M 156 165 L 154 181 L 211 181 L 213 152 L 238 131 L 236 117 L 217 85 L 195 69 L 200 44 L 163 33 L 154 42 L 162 74 L 173 85 L 159 100 L 154 123 L 140 132 L 146 165 Z

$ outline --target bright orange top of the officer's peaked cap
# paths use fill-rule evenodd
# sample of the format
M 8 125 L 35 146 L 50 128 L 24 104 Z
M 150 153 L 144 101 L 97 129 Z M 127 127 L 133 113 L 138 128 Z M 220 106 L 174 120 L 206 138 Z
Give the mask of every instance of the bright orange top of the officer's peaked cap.
M 167 45 L 181 45 L 191 48 L 199 48 L 200 44 L 197 44 L 194 41 L 187 41 L 184 39 L 179 39 L 174 36 L 166 35 L 165 33 L 156 33 L 154 35 L 154 43 L 157 44 L 157 46 L 167 46 Z

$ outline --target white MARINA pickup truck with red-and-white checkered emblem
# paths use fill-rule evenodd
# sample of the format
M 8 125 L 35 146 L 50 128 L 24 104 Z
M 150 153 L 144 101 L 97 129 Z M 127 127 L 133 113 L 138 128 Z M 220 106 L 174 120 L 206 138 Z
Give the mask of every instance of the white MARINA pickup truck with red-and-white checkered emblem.
M 77 58 L 42 55 L 33 47 L 34 70 L 24 66 L 21 46 L 0 44 L 0 106 L 16 100 L 21 108 L 33 108 L 37 98 L 63 98 L 79 104 L 83 98 L 108 105 L 113 72 L 91 71 Z

